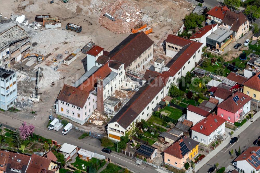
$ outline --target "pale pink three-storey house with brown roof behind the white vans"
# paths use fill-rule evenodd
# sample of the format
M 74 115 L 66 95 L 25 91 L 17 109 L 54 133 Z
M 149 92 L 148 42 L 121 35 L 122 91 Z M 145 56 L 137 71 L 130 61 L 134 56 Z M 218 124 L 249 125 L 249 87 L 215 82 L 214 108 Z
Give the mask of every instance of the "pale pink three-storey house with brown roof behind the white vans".
M 64 84 L 57 98 L 56 114 L 82 125 L 97 108 L 96 101 L 96 95 Z

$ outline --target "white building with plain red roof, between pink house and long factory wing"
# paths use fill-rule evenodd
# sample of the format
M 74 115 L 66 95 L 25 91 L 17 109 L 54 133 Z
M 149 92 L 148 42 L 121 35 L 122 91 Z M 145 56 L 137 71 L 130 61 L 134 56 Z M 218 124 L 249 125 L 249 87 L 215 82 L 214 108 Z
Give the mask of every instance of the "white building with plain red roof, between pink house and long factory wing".
M 200 109 L 196 106 L 189 105 L 187 106 L 187 120 L 192 121 L 192 125 L 195 125 L 200 120 L 204 119 L 210 114 L 210 112 L 207 112 L 203 109 Z

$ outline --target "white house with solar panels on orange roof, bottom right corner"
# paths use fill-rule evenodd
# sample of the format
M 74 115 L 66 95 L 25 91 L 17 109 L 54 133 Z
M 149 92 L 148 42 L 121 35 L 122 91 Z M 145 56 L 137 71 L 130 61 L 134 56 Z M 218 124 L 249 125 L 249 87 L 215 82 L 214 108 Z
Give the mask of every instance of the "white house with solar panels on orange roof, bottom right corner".
M 252 173 L 260 171 L 260 147 L 249 147 L 236 159 L 239 173 Z

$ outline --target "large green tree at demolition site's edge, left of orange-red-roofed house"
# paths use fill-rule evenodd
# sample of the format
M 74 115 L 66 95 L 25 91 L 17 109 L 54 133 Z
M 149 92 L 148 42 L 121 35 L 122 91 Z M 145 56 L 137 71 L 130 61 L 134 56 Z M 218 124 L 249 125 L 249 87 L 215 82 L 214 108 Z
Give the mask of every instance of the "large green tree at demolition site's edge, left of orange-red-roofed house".
M 191 13 L 191 14 L 185 16 L 184 26 L 186 27 L 186 30 L 194 29 L 197 26 L 200 26 L 203 21 L 205 21 L 204 16 L 197 15 L 195 13 Z

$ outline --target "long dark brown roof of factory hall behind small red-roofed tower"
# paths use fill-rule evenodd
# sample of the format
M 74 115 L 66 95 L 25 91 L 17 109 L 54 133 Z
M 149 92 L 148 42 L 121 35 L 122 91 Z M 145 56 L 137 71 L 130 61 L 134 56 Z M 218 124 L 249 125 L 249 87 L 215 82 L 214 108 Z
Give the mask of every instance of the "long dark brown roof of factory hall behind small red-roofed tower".
M 153 43 L 151 38 L 142 31 L 130 34 L 110 51 L 109 57 L 111 57 L 111 60 L 125 64 L 126 69 L 136 58 L 152 46 Z

